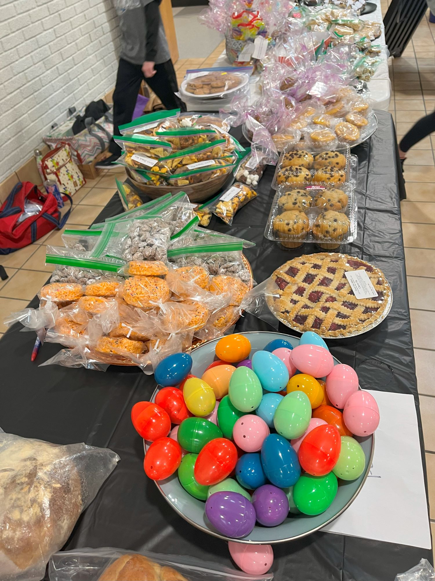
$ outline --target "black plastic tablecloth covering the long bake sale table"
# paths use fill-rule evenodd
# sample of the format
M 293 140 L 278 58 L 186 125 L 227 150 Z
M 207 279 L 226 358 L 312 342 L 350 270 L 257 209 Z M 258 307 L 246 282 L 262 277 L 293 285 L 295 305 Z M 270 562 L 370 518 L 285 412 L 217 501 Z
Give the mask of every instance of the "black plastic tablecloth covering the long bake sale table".
M 352 365 L 362 388 L 412 393 L 423 444 L 405 278 L 394 128 L 389 113 L 378 113 L 374 136 L 354 150 L 358 172 L 358 236 L 342 251 L 381 268 L 393 289 L 393 307 L 379 327 L 362 336 L 331 340 L 332 354 Z M 237 136 L 237 134 L 236 134 Z M 257 282 L 296 254 L 313 253 L 313 245 L 285 250 L 263 237 L 274 191 L 274 168 L 260 181 L 259 196 L 240 210 L 233 227 L 212 218 L 210 227 L 256 242 L 246 250 Z M 122 211 L 115 195 L 97 221 Z M 36 300 L 32 306 L 37 304 Z M 236 331 L 267 329 L 252 315 Z M 289 331 L 285 327 L 280 331 Z M 106 373 L 30 363 L 35 335 L 16 325 L 1 340 L 0 426 L 6 432 L 56 443 L 86 442 L 106 446 L 121 457 L 95 501 L 84 512 L 66 548 L 113 546 L 157 553 L 187 554 L 231 564 L 227 544 L 200 532 L 179 517 L 143 472 L 143 443 L 134 431 L 130 410 L 149 399 L 153 376 L 136 368 L 110 367 Z M 38 363 L 59 350 L 45 344 Z M 423 450 L 422 445 L 422 450 Z M 423 456 L 423 466 L 425 458 Z M 426 473 L 426 468 L 425 468 Z M 388 499 L 386 499 L 388 501 Z M 412 498 L 409 498 L 412 502 Z M 400 510 L 400 507 L 397 507 Z M 406 523 L 403 523 L 406 526 Z M 317 532 L 274 547 L 278 581 L 393 581 L 432 552 L 415 547 Z

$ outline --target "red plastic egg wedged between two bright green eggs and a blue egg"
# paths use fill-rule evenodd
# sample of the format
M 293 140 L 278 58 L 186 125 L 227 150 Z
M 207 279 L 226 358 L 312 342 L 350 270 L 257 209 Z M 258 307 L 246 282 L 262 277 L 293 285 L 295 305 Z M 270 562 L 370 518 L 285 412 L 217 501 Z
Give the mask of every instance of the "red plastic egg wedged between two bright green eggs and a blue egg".
M 205 444 L 195 462 L 195 479 L 205 486 L 213 486 L 227 478 L 237 463 L 237 450 L 230 440 L 220 437 Z

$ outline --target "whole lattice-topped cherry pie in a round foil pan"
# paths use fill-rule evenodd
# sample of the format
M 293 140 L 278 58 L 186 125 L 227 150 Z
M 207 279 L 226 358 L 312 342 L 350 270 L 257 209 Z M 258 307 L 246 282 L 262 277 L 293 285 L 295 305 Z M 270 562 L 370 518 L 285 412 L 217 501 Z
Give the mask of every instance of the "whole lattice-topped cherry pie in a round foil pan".
M 365 270 L 377 297 L 357 299 L 345 272 Z M 267 304 L 297 331 L 345 337 L 368 330 L 386 316 L 391 288 L 379 268 L 347 254 L 305 254 L 289 260 L 270 278 Z M 380 321 L 379 321 L 380 322 Z

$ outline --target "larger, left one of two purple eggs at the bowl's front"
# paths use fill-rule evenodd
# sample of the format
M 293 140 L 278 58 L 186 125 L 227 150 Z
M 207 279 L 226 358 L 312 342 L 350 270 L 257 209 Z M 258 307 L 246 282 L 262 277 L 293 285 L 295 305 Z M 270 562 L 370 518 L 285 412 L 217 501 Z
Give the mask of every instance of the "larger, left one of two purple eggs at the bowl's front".
M 237 492 L 215 492 L 207 498 L 205 514 L 222 535 L 241 539 L 255 526 L 252 503 Z

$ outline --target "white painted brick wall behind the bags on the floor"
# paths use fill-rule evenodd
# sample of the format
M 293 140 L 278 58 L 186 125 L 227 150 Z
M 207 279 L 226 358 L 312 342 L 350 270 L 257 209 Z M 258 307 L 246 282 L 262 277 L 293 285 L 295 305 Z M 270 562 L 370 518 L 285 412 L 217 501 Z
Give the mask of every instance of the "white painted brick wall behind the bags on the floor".
M 0 46 L 1 182 L 114 86 L 118 21 L 111 0 L 0 0 Z

